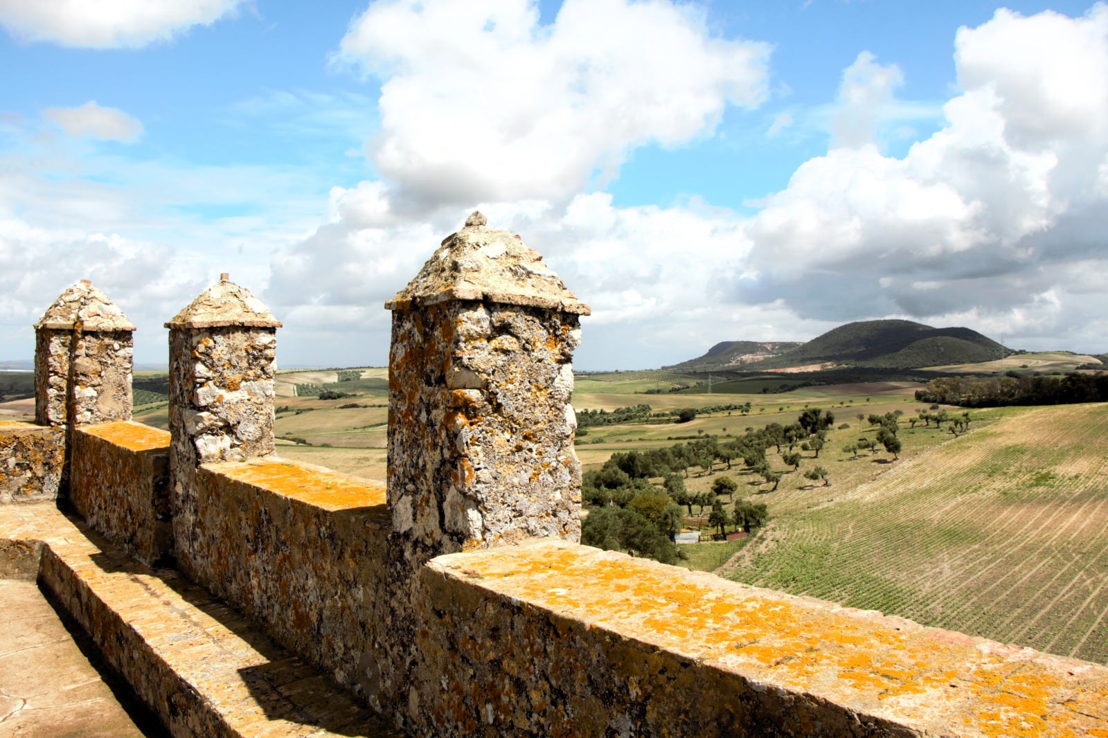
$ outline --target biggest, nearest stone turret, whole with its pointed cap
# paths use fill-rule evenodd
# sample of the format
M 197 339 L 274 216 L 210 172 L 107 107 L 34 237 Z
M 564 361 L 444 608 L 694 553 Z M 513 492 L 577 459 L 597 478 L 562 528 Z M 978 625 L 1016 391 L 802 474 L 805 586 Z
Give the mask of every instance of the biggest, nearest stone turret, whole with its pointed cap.
M 474 213 L 386 304 L 388 500 L 411 561 L 581 537 L 573 350 L 588 307 Z

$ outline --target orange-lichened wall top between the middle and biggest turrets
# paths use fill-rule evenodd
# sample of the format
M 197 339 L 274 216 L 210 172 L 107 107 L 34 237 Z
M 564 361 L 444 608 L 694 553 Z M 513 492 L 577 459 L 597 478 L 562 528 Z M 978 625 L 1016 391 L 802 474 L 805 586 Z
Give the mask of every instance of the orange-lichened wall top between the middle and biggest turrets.
M 209 471 L 324 510 L 386 504 L 384 488 L 373 482 L 290 461 L 258 459 L 204 464 Z

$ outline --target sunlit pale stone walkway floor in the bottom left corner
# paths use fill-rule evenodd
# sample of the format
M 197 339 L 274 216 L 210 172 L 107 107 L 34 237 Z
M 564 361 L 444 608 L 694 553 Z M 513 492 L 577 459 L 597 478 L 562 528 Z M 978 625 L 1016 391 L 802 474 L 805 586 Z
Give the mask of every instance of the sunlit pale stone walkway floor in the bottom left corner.
M 34 582 L 0 580 L 0 737 L 161 735 L 141 711 L 135 725 Z

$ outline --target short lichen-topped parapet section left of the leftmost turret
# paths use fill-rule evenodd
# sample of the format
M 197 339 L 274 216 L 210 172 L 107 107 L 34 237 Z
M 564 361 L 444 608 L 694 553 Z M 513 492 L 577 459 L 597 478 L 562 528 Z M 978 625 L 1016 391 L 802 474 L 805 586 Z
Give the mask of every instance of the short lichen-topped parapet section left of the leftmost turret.
M 0 504 L 57 500 L 64 430 L 0 420 Z

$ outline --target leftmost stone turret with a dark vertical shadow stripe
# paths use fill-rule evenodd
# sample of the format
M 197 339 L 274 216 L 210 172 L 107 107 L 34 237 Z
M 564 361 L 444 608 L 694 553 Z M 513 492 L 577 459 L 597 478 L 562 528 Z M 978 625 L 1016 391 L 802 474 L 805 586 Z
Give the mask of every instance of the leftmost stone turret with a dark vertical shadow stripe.
M 88 279 L 66 288 L 34 325 L 35 422 L 130 420 L 134 329 Z

